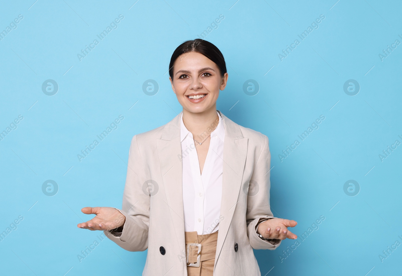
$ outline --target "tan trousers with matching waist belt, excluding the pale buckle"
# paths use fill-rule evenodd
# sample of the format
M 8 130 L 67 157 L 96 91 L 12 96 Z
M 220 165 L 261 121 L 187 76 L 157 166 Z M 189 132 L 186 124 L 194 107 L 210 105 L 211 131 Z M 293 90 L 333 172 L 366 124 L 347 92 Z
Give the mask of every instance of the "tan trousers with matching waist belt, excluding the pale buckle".
M 197 235 L 197 231 L 185 232 L 186 249 L 187 243 L 201 243 L 200 266 L 187 266 L 188 276 L 213 276 L 217 239 L 218 231 L 206 235 Z M 189 253 L 189 263 L 196 263 L 198 247 L 191 246 Z

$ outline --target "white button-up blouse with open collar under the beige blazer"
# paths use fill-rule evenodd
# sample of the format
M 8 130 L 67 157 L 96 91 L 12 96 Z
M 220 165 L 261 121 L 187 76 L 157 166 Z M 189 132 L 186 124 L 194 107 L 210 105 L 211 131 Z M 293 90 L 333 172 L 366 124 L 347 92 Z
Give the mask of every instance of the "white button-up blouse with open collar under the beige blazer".
M 225 129 L 222 117 L 211 132 L 211 141 L 203 172 L 200 174 L 198 154 L 193 134 L 180 117 L 180 141 L 183 166 L 183 207 L 185 231 L 197 231 L 205 235 L 218 231 L 222 198 L 222 172 Z M 211 125 L 211 129 L 215 125 Z M 206 136 L 206 135 L 205 135 Z M 195 137 L 202 142 L 204 137 Z

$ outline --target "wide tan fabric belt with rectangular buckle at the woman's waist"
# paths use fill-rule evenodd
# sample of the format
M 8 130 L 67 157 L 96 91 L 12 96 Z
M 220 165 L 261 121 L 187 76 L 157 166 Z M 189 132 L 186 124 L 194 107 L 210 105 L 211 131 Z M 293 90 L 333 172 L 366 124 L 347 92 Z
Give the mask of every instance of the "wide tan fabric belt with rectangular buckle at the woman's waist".
M 199 267 L 201 261 L 215 258 L 218 231 L 197 235 L 197 231 L 185 232 L 187 266 Z

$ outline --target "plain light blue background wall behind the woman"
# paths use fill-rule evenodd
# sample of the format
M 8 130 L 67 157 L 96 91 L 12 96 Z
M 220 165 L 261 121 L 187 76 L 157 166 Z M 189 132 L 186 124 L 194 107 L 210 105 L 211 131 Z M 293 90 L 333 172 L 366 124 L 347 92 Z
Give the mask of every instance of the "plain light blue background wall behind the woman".
M 402 242 L 402 145 L 382 162 L 379 154 L 402 142 L 402 45 L 383 61 L 379 54 L 402 42 L 401 2 L 134 2 L 2 1 L 0 31 L 24 18 L 0 41 L 0 131 L 24 119 L 0 141 L 0 232 L 24 219 L 0 242 L 1 274 L 142 274 L 146 252 L 109 239 L 78 261 L 101 233 L 76 227 L 92 217 L 80 209 L 121 207 L 131 138 L 182 110 L 168 81 L 174 49 L 219 14 L 224 20 L 205 37 L 228 67 L 217 109 L 269 137 L 274 215 L 296 220 L 297 235 L 325 217 L 282 261 L 295 241 L 254 251 L 261 274 L 400 274 L 401 246 L 383 262 L 379 255 Z M 118 28 L 80 61 L 81 49 L 119 14 Z M 319 28 L 281 61 L 278 54 L 320 14 Z M 54 96 L 42 92 L 48 79 L 59 86 Z M 154 96 L 142 90 L 148 79 L 159 84 Z M 260 86 L 255 96 L 243 91 L 249 79 Z M 349 79 L 360 84 L 355 96 L 343 90 Z M 79 162 L 120 114 L 118 128 Z M 281 162 L 282 150 L 321 114 L 319 129 Z M 59 186 L 55 196 L 42 192 L 49 179 Z M 359 183 L 356 196 L 344 192 L 348 180 Z

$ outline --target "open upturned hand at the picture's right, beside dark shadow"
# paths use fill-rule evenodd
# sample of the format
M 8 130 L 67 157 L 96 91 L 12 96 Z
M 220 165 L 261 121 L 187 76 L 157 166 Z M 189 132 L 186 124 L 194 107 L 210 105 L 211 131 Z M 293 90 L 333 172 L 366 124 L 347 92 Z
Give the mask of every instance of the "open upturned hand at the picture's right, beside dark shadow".
M 257 233 L 266 239 L 297 239 L 297 235 L 287 230 L 287 227 L 295 227 L 296 225 L 297 222 L 293 220 L 273 218 L 260 223 Z

